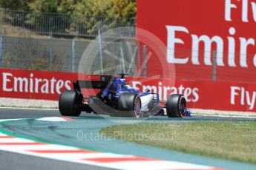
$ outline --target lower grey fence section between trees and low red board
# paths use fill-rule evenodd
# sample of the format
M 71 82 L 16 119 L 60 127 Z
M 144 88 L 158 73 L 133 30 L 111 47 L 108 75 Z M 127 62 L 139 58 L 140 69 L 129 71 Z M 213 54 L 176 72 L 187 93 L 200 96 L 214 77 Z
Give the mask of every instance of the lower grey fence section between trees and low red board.
M 4 31 L 2 32 L 4 33 Z M 104 74 L 122 72 L 122 68 L 124 68 L 129 75 L 134 75 L 136 64 L 134 59 L 138 55 L 135 50 L 135 40 L 129 40 L 129 50 L 125 44 L 122 44 L 123 40 L 126 39 L 101 42 Z M 0 35 L 0 67 L 99 74 L 98 43 L 94 39 Z M 91 50 L 88 55 L 85 51 L 87 49 Z M 88 61 L 92 61 L 91 65 L 88 64 Z M 82 66 L 85 68 L 80 67 L 82 62 L 85 63 Z M 124 67 L 120 67 L 122 64 L 125 64 Z

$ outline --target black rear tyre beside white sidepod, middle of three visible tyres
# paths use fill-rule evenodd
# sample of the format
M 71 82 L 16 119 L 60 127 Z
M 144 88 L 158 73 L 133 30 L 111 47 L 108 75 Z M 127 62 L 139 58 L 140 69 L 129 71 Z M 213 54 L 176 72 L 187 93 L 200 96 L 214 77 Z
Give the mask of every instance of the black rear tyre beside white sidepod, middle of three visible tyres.
M 140 118 L 141 101 L 136 93 L 122 93 L 119 96 L 117 109 L 122 111 L 124 117 Z

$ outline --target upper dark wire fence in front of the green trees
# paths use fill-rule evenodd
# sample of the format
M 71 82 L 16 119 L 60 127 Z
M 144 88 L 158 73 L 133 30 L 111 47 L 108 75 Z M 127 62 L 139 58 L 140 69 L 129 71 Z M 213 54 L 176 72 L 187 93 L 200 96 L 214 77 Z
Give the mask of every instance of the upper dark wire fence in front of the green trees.
M 96 37 L 98 30 L 102 32 L 115 27 L 120 35 L 135 35 L 135 18 L 109 18 L 96 16 L 74 16 L 62 13 L 39 13 L 21 10 L 0 9 L 1 25 L 11 25 L 46 35 L 71 35 L 79 37 Z

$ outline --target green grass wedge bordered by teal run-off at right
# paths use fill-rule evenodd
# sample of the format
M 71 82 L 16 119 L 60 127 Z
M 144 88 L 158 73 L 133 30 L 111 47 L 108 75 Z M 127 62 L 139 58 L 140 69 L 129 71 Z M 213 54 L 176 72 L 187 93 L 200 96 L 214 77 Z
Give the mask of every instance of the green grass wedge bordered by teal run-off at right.
M 137 123 L 102 135 L 191 154 L 256 164 L 256 122 Z

